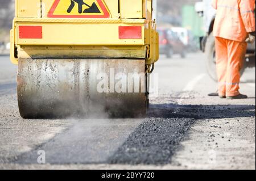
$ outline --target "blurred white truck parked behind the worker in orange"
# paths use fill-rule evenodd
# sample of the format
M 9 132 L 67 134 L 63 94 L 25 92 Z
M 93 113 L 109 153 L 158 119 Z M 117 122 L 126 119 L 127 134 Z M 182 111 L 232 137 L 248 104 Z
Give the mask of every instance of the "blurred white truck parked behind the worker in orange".
M 216 60 L 215 60 L 215 41 L 213 37 L 213 24 L 215 20 L 216 10 L 211 5 L 211 0 L 204 0 L 195 4 L 195 10 L 204 18 L 205 36 L 200 37 L 200 49 L 207 55 L 207 70 L 211 78 L 217 81 Z M 245 68 L 255 67 L 255 42 L 248 44 L 245 64 L 241 70 L 241 74 Z

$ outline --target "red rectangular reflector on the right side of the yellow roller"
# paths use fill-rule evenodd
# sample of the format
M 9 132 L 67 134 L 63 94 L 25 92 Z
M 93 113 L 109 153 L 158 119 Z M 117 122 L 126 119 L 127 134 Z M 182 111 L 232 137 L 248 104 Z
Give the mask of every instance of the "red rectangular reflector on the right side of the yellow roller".
M 119 27 L 119 39 L 142 39 L 142 27 Z

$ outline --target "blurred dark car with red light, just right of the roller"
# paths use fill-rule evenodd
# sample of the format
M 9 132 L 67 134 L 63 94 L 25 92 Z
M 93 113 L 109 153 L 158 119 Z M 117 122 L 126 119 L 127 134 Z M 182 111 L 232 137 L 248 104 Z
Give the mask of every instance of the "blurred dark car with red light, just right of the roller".
M 160 54 L 166 54 L 168 58 L 171 58 L 173 54 L 180 54 L 181 58 L 186 56 L 186 46 L 177 33 L 170 29 L 160 29 L 158 32 Z

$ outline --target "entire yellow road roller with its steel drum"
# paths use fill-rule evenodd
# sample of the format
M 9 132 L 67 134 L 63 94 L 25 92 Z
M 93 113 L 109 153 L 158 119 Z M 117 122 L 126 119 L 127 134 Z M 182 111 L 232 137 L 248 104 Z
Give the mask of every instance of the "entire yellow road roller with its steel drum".
M 146 116 L 152 0 L 16 0 L 10 37 L 24 119 Z

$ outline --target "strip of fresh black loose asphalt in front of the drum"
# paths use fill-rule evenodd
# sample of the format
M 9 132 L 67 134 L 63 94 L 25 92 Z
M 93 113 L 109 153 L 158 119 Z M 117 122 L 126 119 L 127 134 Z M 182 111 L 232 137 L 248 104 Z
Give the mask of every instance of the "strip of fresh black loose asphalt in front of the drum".
M 195 123 L 189 118 L 148 118 L 109 158 L 109 163 L 130 165 L 164 165 Z

